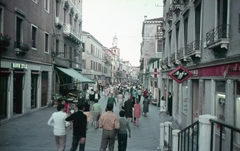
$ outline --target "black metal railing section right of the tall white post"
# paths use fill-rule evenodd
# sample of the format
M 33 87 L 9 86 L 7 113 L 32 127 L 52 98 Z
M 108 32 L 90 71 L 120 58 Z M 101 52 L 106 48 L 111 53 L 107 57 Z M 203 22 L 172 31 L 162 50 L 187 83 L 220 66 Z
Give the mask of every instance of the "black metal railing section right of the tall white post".
M 213 120 L 210 119 L 209 120 L 211 122 L 211 144 L 210 144 L 210 151 L 213 151 L 213 146 L 214 144 L 219 144 L 219 151 L 222 151 L 222 140 L 223 140 L 223 129 L 224 128 L 228 128 L 231 131 L 231 140 L 230 140 L 230 150 L 229 151 L 233 151 L 233 141 L 234 141 L 234 134 L 236 135 L 236 133 L 240 134 L 240 129 L 237 127 L 233 127 L 231 125 L 222 123 L 220 121 L 217 120 Z M 220 126 L 220 137 L 219 137 L 219 143 L 213 142 L 213 135 L 214 135 L 214 124 L 218 124 Z

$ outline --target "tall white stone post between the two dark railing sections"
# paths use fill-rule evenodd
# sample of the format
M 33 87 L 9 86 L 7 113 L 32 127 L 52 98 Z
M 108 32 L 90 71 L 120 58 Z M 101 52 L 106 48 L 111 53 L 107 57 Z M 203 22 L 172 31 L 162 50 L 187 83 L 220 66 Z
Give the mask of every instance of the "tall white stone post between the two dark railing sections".
M 210 119 L 217 119 L 213 115 L 200 115 L 199 116 L 199 151 L 209 151 L 210 150 L 210 134 L 211 134 L 211 123 Z

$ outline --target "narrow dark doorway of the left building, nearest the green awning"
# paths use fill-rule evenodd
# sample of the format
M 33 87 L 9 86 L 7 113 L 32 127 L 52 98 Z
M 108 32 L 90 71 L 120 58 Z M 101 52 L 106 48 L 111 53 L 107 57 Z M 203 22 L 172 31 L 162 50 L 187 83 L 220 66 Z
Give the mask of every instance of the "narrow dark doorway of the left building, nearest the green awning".
M 47 94 L 48 94 L 48 72 L 42 72 L 42 101 L 41 106 L 47 105 Z

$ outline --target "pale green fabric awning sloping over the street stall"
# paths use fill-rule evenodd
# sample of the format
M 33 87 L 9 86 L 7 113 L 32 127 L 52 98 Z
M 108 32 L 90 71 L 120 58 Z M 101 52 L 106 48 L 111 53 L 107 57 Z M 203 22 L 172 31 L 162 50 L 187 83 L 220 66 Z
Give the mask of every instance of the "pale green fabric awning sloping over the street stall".
M 80 74 L 79 72 L 77 72 L 72 68 L 61 68 L 61 67 L 57 67 L 57 68 L 62 72 L 66 73 L 67 75 L 75 79 L 78 79 L 81 83 L 95 83 L 94 81 L 88 79 L 87 77 L 83 76 L 82 74 Z

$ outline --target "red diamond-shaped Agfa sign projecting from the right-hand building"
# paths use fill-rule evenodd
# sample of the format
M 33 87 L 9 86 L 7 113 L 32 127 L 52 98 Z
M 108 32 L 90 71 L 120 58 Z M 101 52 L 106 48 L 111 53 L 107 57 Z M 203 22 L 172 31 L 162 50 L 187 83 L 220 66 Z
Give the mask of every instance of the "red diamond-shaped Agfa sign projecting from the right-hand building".
M 183 83 L 185 80 L 192 76 L 192 73 L 182 66 L 178 66 L 176 69 L 171 71 L 168 76 L 173 78 L 178 83 Z

